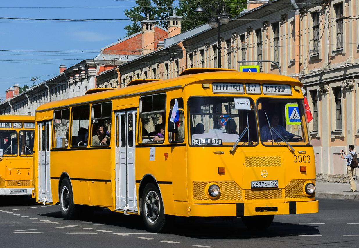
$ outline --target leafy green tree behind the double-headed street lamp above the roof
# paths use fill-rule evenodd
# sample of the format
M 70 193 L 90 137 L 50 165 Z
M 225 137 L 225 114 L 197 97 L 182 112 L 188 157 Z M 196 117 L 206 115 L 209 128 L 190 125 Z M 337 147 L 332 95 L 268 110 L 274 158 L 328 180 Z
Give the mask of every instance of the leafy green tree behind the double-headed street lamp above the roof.
M 230 18 L 233 18 L 241 13 L 244 8 L 247 8 L 246 0 L 239 0 L 234 2 L 233 0 L 179 0 L 180 6 L 177 8 L 177 14 L 182 15 L 181 20 L 181 31 L 186 31 L 196 26 L 208 23 L 208 19 L 211 16 L 217 16 L 217 13 L 214 9 L 218 8 L 218 3 L 220 5 L 225 5 L 225 10 L 229 14 Z M 195 13 L 194 10 L 198 5 L 201 5 L 206 9 L 205 13 Z M 214 8 L 214 9 L 213 9 Z M 222 8 L 220 8 L 222 11 Z

